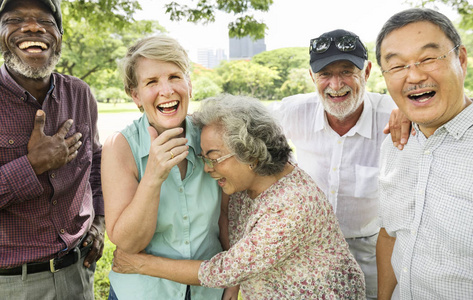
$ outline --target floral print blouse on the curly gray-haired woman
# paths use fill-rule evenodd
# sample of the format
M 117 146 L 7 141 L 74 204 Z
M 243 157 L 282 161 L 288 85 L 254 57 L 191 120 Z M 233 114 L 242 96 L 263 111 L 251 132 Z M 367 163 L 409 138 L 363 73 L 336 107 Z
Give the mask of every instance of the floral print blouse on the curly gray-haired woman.
M 230 249 L 202 262 L 207 287 L 243 299 L 364 299 L 363 273 L 331 205 L 299 167 L 255 199 L 230 196 Z

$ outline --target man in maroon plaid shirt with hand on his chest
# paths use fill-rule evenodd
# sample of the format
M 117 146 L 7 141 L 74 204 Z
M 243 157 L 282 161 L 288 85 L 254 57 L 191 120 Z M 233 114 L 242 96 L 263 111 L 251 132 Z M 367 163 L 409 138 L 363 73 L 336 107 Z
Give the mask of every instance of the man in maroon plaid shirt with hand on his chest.
M 59 0 L 0 0 L 0 299 L 93 299 L 102 147 L 90 88 L 54 73 Z

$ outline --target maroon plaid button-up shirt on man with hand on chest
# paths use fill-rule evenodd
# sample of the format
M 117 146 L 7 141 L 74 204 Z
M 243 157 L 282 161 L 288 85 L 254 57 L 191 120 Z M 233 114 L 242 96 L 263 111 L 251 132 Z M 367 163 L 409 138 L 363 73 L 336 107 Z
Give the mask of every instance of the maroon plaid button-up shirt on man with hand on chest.
M 38 109 L 46 113 L 46 135 L 67 119 L 74 123 L 66 137 L 82 133 L 78 156 L 41 175 L 26 158 Z M 86 83 L 54 73 L 41 106 L 0 68 L 0 268 L 47 261 L 77 245 L 104 214 L 101 153 L 97 103 Z

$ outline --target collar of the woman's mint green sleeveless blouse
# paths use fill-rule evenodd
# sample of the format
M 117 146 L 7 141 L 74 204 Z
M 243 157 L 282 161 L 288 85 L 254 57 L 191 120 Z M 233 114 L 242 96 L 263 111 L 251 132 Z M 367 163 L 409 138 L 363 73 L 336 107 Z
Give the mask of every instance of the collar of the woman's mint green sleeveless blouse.
M 195 156 L 202 150 L 200 149 L 200 130 L 192 124 L 191 117 L 187 116 L 186 122 L 186 138 L 187 145 L 189 146 L 189 154 L 186 158 L 192 163 L 195 163 Z M 151 147 L 151 138 L 148 132 L 149 121 L 146 114 L 143 114 L 138 124 L 138 131 L 142 134 L 139 135 L 140 145 L 142 147 L 138 150 L 138 155 L 143 158 L 149 155 L 149 149 Z

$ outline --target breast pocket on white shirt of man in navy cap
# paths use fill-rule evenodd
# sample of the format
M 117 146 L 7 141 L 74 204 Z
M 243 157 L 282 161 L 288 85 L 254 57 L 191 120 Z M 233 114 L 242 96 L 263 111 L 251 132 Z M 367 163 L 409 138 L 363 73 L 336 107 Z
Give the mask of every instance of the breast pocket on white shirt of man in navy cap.
M 379 168 L 355 165 L 355 197 L 374 198 L 378 196 Z

